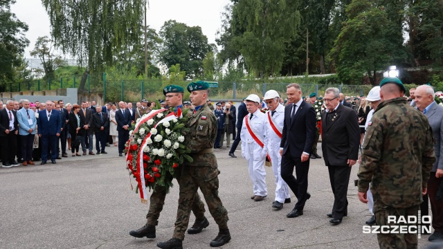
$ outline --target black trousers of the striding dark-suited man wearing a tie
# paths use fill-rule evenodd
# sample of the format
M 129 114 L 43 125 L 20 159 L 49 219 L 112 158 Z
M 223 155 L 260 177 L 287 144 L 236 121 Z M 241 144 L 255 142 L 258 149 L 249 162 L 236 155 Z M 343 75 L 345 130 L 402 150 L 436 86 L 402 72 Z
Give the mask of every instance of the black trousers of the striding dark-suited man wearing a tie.
M 287 153 L 289 154 L 289 153 Z M 293 169 L 296 168 L 296 177 L 293 176 Z M 303 210 L 307 200 L 307 178 L 309 172 L 309 159 L 305 162 L 301 158 L 282 156 L 282 167 L 280 175 L 287 183 L 298 201 L 294 209 Z

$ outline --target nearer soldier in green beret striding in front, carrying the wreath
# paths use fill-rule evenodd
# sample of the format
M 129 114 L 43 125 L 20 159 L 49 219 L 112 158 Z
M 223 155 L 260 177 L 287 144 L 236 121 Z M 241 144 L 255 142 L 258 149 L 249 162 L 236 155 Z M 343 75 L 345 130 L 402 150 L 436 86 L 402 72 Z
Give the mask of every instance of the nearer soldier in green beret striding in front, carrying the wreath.
M 221 203 L 218 194 L 219 170 L 217 169 L 217 158 L 213 153 L 217 120 L 213 111 L 206 104 L 208 88 L 207 82 L 192 82 L 188 85 L 195 111 L 190 113 L 187 125 L 190 131 L 186 133 L 185 138 L 187 146 L 191 149 L 190 156 L 192 156 L 193 162 L 185 163 L 181 172 L 179 208 L 174 235 L 168 241 L 157 243 L 159 248 L 182 248 L 182 241 L 189 222 L 190 207 L 199 188 L 205 197 L 210 214 L 219 225 L 219 234 L 213 241 L 210 241 L 210 246 L 223 246 L 230 240 L 228 211 Z

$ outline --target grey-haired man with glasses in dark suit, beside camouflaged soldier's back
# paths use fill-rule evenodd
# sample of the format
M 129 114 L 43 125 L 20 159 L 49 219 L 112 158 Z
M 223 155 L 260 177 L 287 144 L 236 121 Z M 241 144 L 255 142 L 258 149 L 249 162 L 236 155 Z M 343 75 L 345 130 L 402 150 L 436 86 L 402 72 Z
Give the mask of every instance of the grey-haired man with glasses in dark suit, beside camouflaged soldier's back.
M 338 225 L 347 216 L 347 185 L 351 166 L 359 156 L 359 119 L 353 109 L 340 104 L 338 89 L 326 89 L 323 101 L 326 109 L 321 116 L 323 158 L 329 170 L 334 206 L 329 222 Z

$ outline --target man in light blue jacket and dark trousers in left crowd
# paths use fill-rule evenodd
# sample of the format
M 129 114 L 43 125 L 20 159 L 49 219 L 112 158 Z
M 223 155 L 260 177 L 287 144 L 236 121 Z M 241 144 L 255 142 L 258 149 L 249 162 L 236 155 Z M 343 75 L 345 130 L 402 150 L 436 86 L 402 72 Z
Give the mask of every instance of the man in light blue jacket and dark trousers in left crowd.
M 23 165 L 33 165 L 33 145 L 35 138 L 35 126 L 37 118 L 33 110 L 29 109 L 29 100 L 23 100 L 22 109 L 17 111 L 17 121 L 19 122 L 19 137 L 21 139 L 21 157 Z

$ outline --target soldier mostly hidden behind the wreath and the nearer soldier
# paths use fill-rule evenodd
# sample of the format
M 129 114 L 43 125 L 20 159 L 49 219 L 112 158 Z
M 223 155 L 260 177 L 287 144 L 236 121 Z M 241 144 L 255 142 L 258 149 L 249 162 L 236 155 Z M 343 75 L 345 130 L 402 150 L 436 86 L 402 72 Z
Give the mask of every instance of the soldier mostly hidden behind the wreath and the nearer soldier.
M 163 89 L 163 95 L 165 95 L 167 104 L 177 111 L 179 108 L 183 108 L 183 87 L 168 85 Z M 180 174 L 176 175 L 177 182 L 180 184 Z M 155 238 L 155 226 L 159 223 L 159 216 L 161 210 L 163 210 L 163 205 L 165 205 L 166 198 L 166 188 L 157 185 L 150 196 L 150 210 L 146 215 L 146 225 L 138 230 L 132 230 L 129 232 L 130 235 L 136 238 Z M 205 217 L 205 205 L 201 201 L 199 194 L 195 194 L 195 200 L 191 203 L 190 208 L 195 214 L 195 223 L 192 228 L 188 230 L 190 234 L 197 234 L 201 232 L 204 228 L 209 225 L 208 219 Z

